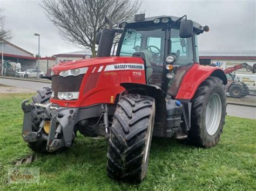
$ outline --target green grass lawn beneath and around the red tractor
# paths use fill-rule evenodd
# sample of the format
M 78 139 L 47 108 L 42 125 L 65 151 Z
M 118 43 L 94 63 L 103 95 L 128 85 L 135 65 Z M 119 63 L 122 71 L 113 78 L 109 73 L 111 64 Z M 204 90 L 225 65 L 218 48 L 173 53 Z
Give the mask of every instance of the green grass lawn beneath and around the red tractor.
M 153 138 L 147 176 L 140 185 L 130 185 L 107 177 L 105 139 L 78 135 L 64 153 L 33 153 L 21 137 L 21 101 L 31 95 L 0 94 L 0 190 L 256 189 L 256 120 L 227 116 L 219 144 L 210 149 Z M 40 167 L 40 183 L 6 183 L 8 168 L 31 154 L 37 159 L 21 167 Z

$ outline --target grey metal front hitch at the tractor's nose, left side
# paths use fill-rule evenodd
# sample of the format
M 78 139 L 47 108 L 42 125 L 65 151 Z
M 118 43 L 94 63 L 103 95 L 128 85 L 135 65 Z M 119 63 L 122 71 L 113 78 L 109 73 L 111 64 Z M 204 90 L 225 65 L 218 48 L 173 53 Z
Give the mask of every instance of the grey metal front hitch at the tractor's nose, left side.
M 53 107 L 52 103 L 35 105 L 26 103 L 29 100 L 22 102 L 22 110 L 24 112 L 22 137 L 25 142 L 46 141 L 46 150 L 54 152 L 61 147 L 70 147 L 72 140 L 75 137 L 73 128 L 76 122 L 77 108 L 58 108 Z M 37 131 L 32 129 L 32 110 L 36 107 L 45 108 L 41 115 L 41 123 Z M 50 129 L 45 133 L 44 124 L 50 121 Z

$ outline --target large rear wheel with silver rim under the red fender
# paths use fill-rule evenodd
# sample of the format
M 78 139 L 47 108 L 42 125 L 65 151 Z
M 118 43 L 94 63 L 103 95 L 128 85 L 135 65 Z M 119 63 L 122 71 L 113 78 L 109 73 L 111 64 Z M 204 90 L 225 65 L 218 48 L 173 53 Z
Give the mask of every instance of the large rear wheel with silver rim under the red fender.
M 226 95 L 223 81 L 208 77 L 192 98 L 191 129 L 188 140 L 200 147 L 217 145 L 226 116 Z

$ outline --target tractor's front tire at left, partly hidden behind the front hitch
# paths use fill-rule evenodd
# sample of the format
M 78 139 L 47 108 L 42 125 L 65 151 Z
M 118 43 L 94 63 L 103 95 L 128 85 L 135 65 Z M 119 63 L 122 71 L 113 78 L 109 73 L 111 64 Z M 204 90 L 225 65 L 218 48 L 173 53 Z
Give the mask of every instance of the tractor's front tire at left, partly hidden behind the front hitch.
M 44 87 L 42 90 L 38 90 L 37 94 L 32 97 L 31 105 L 35 105 L 35 103 L 46 104 L 49 103 L 51 97 L 51 87 Z M 41 107 L 36 107 L 32 110 L 32 131 L 37 132 L 39 130 L 39 125 L 41 123 L 41 116 L 43 115 L 45 109 Z M 31 150 L 38 153 L 45 153 L 46 151 L 46 140 L 42 140 L 39 142 L 31 142 L 28 143 L 28 146 Z

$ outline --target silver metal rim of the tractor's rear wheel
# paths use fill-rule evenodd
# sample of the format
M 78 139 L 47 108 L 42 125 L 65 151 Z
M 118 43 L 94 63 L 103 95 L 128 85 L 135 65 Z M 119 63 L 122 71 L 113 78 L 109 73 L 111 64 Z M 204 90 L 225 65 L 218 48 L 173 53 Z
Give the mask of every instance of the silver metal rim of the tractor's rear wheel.
M 206 106 L 205 125 L 207 133 L 212 136 L 217 132 L 221 119 L 221 100 L 218 94 L 213 94 Z

